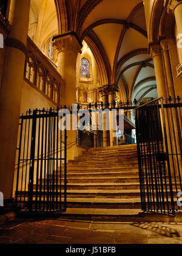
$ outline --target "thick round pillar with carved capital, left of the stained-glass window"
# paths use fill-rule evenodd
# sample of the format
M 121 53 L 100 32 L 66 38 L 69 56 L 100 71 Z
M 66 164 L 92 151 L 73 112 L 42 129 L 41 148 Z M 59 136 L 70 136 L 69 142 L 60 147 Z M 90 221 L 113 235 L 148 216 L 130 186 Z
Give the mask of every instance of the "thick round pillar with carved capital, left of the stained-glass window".
M 74 32 L 69 32 L 53 38 L 53 44 L 58 50 L 58 72 L 66 82 L 64 88 L 64 105 L 72 106 L 76 103 L 76 60 L 81 53 L 81 44 Z M 72 118 L 71 118 L 72 119 Z M 71 120 L 72 122 L 72 120 Z M 67 159 L 78 155 L 76 148 L 76 131 L 67 131 Z

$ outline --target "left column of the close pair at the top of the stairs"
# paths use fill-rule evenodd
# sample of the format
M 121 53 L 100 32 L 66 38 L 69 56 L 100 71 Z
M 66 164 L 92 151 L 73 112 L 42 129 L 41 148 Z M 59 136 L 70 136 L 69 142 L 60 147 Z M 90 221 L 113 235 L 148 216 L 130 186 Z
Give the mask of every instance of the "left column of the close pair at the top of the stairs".
M 98 88 L 99 92 L 101 93 L 102 96 L 102 102 L 106 104 L 109 102 L 108 99 L 108 86 L 103 86 L 101 88 Z M 103 115 L 103 147 L 108 147 L 110 145 L 110 131 L 106 130 L 106 115 Z

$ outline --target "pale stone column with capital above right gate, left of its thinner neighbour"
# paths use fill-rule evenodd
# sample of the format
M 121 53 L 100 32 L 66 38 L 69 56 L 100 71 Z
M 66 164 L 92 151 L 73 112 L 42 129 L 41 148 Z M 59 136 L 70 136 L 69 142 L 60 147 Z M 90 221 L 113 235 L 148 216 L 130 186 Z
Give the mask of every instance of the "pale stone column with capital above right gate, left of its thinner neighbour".
M 157 81 L 158 97 L 164 97 L 166 99 L 166 80 L 164 76 L 163 57 L 160 45 L 150 47 L 151 57 L 153 58 L 155 77 Z

